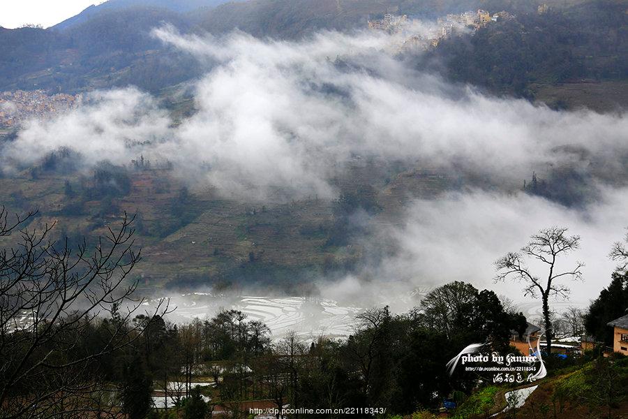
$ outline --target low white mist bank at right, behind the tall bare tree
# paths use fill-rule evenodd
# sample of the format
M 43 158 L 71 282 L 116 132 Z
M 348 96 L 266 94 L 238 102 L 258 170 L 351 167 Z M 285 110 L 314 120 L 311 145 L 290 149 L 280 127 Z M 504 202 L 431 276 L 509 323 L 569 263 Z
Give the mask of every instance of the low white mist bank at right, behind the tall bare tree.
M 362 292 L 394 304 L 404 291 L 427 291 L 451 281 L 467 281 L 516 302 L 530 302 L 523 297 L 523 284 L 494 283 L 493 263 L 505 253 L 521 249 L 541 228 L 563 226 L 569 228 L 569 235 L 581 237 L 581 247 L 561 258 L 557 269 L 567 271 L 577 260 L 585 267 L 584 281 L 567 279 L 561 284 L 571 288 L 572 304 L 586 305 L 610 283 L 615 263 L 608 253 L 613 242 L 622 240 L 628 226 L 624 210 L 628 189 L 604 188 L 601 195 L 585 210 L 525 193 L 479 190 L 449 193 L 436 200 L 415 200 L 397 226 L 379 223 L 374 233 L 377 238 L 369 238 L 368 243 L 390 246 L 392 251 L 364 267 L 364 274 L 375 280 L 367 283 Z M 528 265 L 539 277 L 546 275 L 544 265 L 534 260 Z M 391 293 L 389 281 L 399 285 Z M 336 289 L 332 288 L 331 293 Z

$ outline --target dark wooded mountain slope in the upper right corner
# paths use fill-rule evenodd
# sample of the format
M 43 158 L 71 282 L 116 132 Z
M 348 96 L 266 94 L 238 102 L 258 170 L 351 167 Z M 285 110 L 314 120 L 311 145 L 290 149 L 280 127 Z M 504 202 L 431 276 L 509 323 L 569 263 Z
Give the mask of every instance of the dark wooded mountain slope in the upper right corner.
M 463 41 L 444 41 L 430 58 L 451 80 L 532 98 L 534 83 L 624 79 L 627 30 L 620 2 L 590 1 L 517 13 Z

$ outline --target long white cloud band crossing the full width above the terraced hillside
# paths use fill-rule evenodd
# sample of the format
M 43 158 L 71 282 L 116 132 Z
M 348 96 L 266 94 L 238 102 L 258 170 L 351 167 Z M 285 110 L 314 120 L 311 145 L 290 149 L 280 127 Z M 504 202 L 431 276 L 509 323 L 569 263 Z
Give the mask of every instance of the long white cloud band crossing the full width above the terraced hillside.
M 324 32 L 290 42 L 241 32 L 184 36 L 171 27 L 154 35 L 207 62 L 193 117 L 173 128 L 147 94 L 98 92 L 91 105 L 31 122 L 5 160 L 32 163 L 57 147 L 77 149 L 90 164 L 142 153 L 245 200 L 331 198 L 329 179 L 356 156 L 472 173 L 506 187 L 563 165 L 603 164 L 599 175 L 612 179 L 625 172 L 625 115 L 559 112 L 452 89 L 387 53 L 399 35 Z

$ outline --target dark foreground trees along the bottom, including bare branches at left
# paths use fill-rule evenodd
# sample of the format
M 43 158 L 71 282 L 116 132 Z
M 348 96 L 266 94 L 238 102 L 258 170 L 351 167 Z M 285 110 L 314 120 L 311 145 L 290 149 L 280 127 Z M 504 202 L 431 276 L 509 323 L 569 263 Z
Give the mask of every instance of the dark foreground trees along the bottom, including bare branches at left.
M 136 284 L 128 281 L 141 257 L 133 248 L 132 217 L 112 226 L 93 248 L 82 244 L 73 252 L 67 243 L 49 241 L 47 230 L 22 228 L 32 215 L 0 217 L 3 235 L 21 237 L 20 247 L 0 253 L 1 418 L 201 419 L 212 412 L 239 418 L 248 417 L 251 406 L 370 406 L 385 409 L 381 416 L 387 418 L 432 418 L 446 402 L 449 409 L 457 406 L 449 411 L 454 417 L 480 418 L 495 409 L 499 387 L 486 373 L 450 376 L 445 365 L 469 342 L 518 353 L 510 341 L 528 328 L 508 300 L 462 281 L 434 288 L 406 313 L 367 309 L 347 339 L 304 341 L 294 332 L 273 339 L 266 325 L 235 309 L 174 324 L 167 316 L 176 307 L 163 299 L 142 312 Z M 577 247 L 578 238 L 564 233 L 548 229 L 532 236 L 523 253 L 496 263 L 506 269 L 500 278 L 515 272 L 525 255 L 560 257 L 563 251 L 553 249 Z M 539 244 L 539 237 L 549 245 Z M 626 263 L 625 244 L 615 244 L 614 254 Z M 555 281 L 546 288 L 564 290 Z M 615 417 L 628 388 L 628 363 L 620 354 L 603 356 L 612 337 L 604 326 L 625 307 L 628 274 L 620 269 L 572 323 L 598 343 L 570 357 L 554 358 L 547 348 L 553 409 L 557 403 L 561 412 L 565 406 L 608 407 L 608 418 Z M 548 341 L 558 335 L 558 320 L 548 313 Z M 574 371 L 583 381 L 566 391 L 561 380 Z M 611 388 L 600 385 L 608 380 Z

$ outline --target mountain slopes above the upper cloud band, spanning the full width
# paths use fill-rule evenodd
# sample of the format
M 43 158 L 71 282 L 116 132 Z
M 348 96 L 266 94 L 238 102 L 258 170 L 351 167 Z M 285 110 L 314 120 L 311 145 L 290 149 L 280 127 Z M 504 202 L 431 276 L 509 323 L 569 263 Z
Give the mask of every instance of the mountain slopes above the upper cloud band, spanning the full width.
M 149 31 L 167 22 L 182 33 L 234 29 L 258 37 L 298 39 L 320 29 L 366 28 L 384 13 L 436 19 L 464 10 L 508 10 L 512 21 L 477 34 L 451 38 L 421 59 L 454 82 L 494 94 L 548 101 L 555 107 L 597 109 L 625 106 L 623 96 L 599 105 L 597 97 L 574 96 L 571 82 L 625 80 L 628 73 L 627 14 L 620 2 L 508 0 L 112 0 L 88 8 L 50 29 L 0 29 L 0 90 L 89 91 L 128 84 L 159 92 L 202 73 L 188 54 L 165 47 Z M 218 5 L 218 6 L 216 6 Z M 216 6 L 216 7 L 214 7 Z M 613 87 L 602 84 L 601 95 Z M 599 89 L 598 89 L 599 90 Z M 600 108 L 601 106 L 601 108 Z

